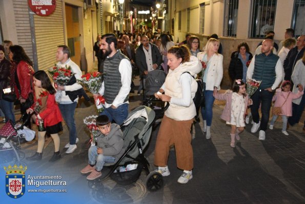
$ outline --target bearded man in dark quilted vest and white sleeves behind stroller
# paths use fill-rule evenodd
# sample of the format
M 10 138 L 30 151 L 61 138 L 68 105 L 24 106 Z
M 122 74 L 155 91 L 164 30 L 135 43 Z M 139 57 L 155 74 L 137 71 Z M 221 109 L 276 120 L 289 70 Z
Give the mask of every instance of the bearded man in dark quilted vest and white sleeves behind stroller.
M 123 124 L 128 116 L 128 95 L 131 84 L 131 64 L 127 56 L 117 50 L 117 38 L 113 33 L 101 36 L 101 50 L 105 55 L 104 81 L 99 95 L 103 95 L 106 103 L 100 115 L 107 115 L 116 124 Z

